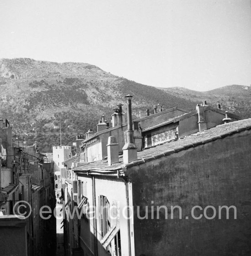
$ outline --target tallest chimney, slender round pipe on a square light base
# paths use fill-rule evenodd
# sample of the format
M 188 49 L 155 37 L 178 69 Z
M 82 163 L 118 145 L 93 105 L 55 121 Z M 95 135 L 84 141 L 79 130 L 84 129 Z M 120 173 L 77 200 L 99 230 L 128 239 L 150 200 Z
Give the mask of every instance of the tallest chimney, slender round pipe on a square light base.
M 137 147 L 133 143 L 133 130 L 132 130 L 132 115 L 131 115 L 131 95 L 126 95 L 127 98 L 127 131 L 126 143 L 123 149 L 123 162 L 130 163 L 131 161 L 137 160 Z

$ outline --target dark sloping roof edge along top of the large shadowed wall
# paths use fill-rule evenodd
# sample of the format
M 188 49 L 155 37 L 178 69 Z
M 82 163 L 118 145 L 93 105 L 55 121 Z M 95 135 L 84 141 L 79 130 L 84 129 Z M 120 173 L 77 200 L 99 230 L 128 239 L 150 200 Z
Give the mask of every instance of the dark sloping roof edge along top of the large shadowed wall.
M 200 142 L 188 143 L 188 144 L 185 144 L 184 146 L 179 146 L 179 147 L 174 148 L 174 149 L 169 149 L 169 150 L 167 150 L 167 151 L 165 151 L 163 153 L 152 155 L 152 156 L 149 156 L 149 157 L 146 157 L 146 158 L 141 158 L 141 159 L 133 161 L 131 163 L 126 163 L 125 167 L 126 168 L 130 168 L 130 167 L 139 165 L 141 163 L 146 163 L 146 162 L 152 161 L 152 160 L 157 159 L 157 158 L 168 156 L 168 155 L 171 155 L 173 153 L 177 153 L 179 151 L 186 150 L 186 149 L 191 148 L 191 147 L 197 147 L 199 145 L 206 144 L 208 142 L 212 142 L 212 141 L 215 141 L 215 140 L 218 140 L 218 139 L 222 139 L 222 138 L 225 138 L 227 136 L 233 135 L 235 133 L 238 133 L 238 132 L 241 132 L 241 131 L 247 131 L 247 130 L 250 130 L 250 129 L 251 129 L 251 125 L 243 127 L 243 128 L 240 128 L 240 129 L 236 129 L 235 131 L 230 131 L 230 132 L 222 133 L 221 135 L 216 135 L 216 136 L 211 137 L 209 139 L 204 139 L 204 140 L 202 140 Z

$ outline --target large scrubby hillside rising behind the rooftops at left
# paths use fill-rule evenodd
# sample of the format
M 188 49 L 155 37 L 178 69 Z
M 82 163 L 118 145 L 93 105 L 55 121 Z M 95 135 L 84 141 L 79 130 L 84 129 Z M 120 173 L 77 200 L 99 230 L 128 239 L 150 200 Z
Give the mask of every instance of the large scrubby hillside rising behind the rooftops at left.
M 117 103 L 133 95 L 136 116 L 153 104 L 191 110 L 196 103 L 156 87 L 114 76 L 86 63 L 56 63 L 27 58 L 0 60 L 0 116 L 7 118 L 27 143 L 37 140 L 39 149 L 52 151 L 59 136 L 52 131 L 61 122 L 62 142 L 73 142 L 73 131 L 96 130 L 102 114 L 110 121 Z M 124 106 L 124 111 L 126 107 Z M 65 121 L 66 120 L 66 121 Z M 68 127 L 73 125 L 73 127 Z M 35 134 L 36 132 L 36 134 Z

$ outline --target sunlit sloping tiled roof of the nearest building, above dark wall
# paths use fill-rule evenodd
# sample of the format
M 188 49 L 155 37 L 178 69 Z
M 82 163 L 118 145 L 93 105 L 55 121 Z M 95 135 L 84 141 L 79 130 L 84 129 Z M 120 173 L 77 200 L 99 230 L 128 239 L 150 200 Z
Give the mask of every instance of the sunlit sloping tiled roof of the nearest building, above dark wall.
M 250 129 L 251 118 L 238 120 L 228 124 L 217 125 L 211 129 L 198 132 L 190 136 L 185 136 L 177 141 L 166 142 L 161 145 L 157 145 L 156 147 L 147 148 L 138 152 L 138 160 L 131 163 L 124 164 L 123 158 L 120 157 L 120 163 L 115 163 L 111 166 L 108 166 L 107 160 L 102 160 L 90 163 L 80 163 L 81 165 L 74 168 L 74 170 L 103 170 L 103 172 L 105 172 L 118 170 L 123 167 L 131 167 Z

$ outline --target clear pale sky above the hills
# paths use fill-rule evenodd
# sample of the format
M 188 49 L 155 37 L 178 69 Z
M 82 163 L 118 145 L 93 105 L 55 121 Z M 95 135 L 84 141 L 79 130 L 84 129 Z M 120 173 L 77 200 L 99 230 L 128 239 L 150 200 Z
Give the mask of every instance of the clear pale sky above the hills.
M 84 62 L 156 87 L 251 85 L 251 0 L 0 0 L 0 58 Z

